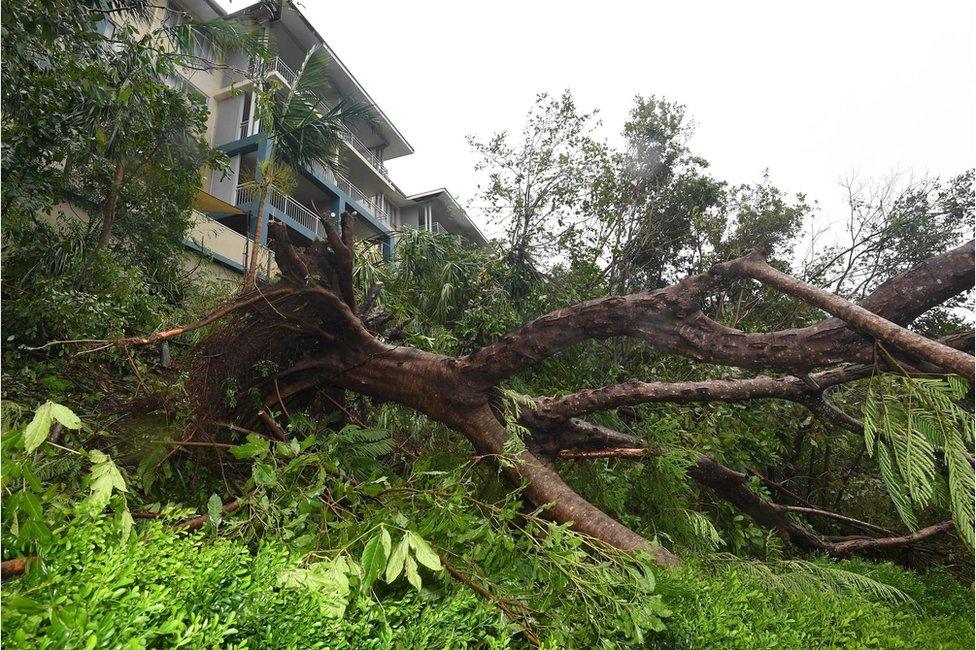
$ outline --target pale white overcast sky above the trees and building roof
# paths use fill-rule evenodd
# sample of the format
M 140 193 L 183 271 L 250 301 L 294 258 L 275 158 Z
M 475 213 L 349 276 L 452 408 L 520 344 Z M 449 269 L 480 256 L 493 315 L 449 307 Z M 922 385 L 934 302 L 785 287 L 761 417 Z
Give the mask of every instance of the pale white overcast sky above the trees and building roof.
M 408 194 L 445 186 L 467 205 L 465 136 L 518 131 L 537 92 L 565 88 L 611 143 L 635 94 L 686 104 L 718 178 L 769 168 L 826 221 L 845 175 L 976 165 L 973 0 L 300 6 L 416 149 L 389 165 Z

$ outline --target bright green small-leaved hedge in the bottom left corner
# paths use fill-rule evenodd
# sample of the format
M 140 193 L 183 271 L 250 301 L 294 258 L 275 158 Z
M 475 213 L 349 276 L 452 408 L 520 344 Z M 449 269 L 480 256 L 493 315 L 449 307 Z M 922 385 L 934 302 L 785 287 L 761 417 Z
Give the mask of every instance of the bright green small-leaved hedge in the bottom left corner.
M 357 593 L 343 618 L 306 588 L 280 586 L 296 561 L 277 545 L 184 535 L 158 522 L 123 543 L 113 526 L 68 526 L 43 564 L 4 586 L 10 648 L 510 647 L 498 609 L 448 583 Z

